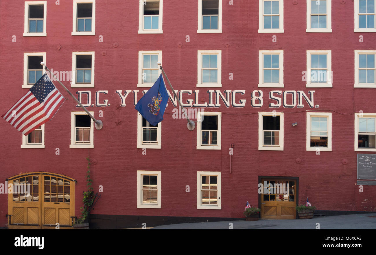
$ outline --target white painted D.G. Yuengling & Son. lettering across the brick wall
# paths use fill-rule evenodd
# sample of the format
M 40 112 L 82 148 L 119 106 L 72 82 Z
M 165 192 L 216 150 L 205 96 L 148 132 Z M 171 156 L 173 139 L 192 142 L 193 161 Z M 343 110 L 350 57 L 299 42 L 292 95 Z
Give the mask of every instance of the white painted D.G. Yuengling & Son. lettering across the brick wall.
M 134 107 L 138 98 L 141 98 L 148 90 L 142 90 L 141 95 L 138 95 L 139 90 L 116 90 L 114 93 L 118 95 L 118 104 L 121 107 L 132 104 L 130 102 L 130 94 L 133 94 Z M 169 96 L 169 103 L 174 107 L 177 106 L 177 99 L 167 90 Z M 197 107 L 197 108 L 218 108 L 224 105 L 225 107 L 246 107 L 246 102 L 250 102 L 253 108 L 260 108 L 264 104 L 269 108 L 318 108 L 319 105 L 314 104 L 315 90 L 304 92 L 303 90 L 271 90 L 264 93 L 262 90 L 253 90 L 250 94 L 246 95 L 246 90 L 207 90 L 206 94 L 200 93 L 200 90 L 176 90 L 179 100 L 182 102 L 183 107 Z M 110 106 L 109 99 L 106 99 L 108 90 L 98 90 L 95 92 L 95 102 L 92 102 L 90 90 L 79 90 L 76 92 L 78 100 L 84 107 L 106 107 Z M 127 99 L 128 98 L 128 99 Z M 128 102 L 126 102 L 128 101 Z M 115 102 L 116 104 L 116 102 Z M 79 107 L 78 105 L 76 107 Z

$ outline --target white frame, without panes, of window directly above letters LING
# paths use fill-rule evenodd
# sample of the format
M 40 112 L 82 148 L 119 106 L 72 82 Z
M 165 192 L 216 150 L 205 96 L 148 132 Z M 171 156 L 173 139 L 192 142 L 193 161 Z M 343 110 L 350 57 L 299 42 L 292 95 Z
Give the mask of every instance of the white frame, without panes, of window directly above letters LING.
M 202 55 L 204 54 L 217 54 L 217 70 L 218 77 L 217 83 L 202 83 Z M 222 87 L 222 51 L 221 50 L 208 50 L 208 51 L 197 51 L 197 87 Z

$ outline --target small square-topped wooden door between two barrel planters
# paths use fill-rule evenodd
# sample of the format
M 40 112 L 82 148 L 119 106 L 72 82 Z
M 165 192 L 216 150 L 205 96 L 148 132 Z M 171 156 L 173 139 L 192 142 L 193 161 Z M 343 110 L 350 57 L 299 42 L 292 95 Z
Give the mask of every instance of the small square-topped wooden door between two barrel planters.
M 270 190 L 266 190 L 267 192 L 265 189 L 262 190 L 261 218 L 296 219 L 296 180 L 264 178 L 261 181 L 265 187 L 268 187 L 265 183 L 272 186 Z

